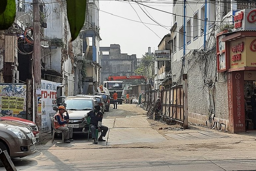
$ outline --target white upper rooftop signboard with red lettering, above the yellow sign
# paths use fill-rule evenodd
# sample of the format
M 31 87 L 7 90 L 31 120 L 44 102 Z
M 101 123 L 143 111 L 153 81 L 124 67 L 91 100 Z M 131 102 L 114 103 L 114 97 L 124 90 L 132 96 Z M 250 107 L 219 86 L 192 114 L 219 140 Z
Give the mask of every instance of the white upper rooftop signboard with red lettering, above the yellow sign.
M 256 30 L 256 9 L 243 9 L 235 13 L 234 31 Z

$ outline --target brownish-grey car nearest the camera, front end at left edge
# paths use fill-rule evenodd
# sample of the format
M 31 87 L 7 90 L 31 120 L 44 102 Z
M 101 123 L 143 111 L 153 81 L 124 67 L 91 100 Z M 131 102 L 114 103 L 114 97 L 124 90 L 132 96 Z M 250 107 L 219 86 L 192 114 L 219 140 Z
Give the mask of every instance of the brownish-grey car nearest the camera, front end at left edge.
M 0 121 L 0 152 L 6 150 L 11 158 L 25 157 L 36 151 L 35 143 L 36 138 L 29 126 L 15 121 Z

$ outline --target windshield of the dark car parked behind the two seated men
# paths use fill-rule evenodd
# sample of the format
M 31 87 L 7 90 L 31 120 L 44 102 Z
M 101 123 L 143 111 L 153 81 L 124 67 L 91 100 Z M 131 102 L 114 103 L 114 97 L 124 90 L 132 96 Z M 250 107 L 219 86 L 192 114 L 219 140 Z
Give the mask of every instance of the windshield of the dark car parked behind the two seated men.
M 66 99 L 64 106 L 66 106 L 66 110 L 91 110 L 93 101 L 90 99 Z

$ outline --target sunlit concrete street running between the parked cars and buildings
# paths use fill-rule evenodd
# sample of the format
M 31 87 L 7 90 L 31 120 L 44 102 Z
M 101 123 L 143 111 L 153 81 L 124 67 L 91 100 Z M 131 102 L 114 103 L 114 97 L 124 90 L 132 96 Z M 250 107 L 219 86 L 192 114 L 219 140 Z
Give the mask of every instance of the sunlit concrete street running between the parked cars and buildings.
M 53 144 L 48 138 L 33 155 L 13 159 L 17 170 L 256 170 L 254 131 L 231 134 L 191 125 L 183 130 L 147 120 L 136 104 L 112 108 L 102 123 L 109 127 L 106 142 L 96 145 L 82 134 L 70 144 L 56 143 L 60 136 Z

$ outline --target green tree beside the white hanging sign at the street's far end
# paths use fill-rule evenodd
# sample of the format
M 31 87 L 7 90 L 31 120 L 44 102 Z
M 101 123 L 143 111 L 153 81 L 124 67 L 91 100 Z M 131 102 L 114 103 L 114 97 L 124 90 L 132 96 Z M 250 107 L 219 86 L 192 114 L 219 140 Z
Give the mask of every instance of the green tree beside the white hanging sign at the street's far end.
M 154 62 L 154 56 L 143 55 L 140 65 L 137 66 L 137 69 L 134 70 L 135 74 L 147 76 L 147 72 L 148 72 L 147 68 L 148 68 L 149 64 L 152 62 Z

